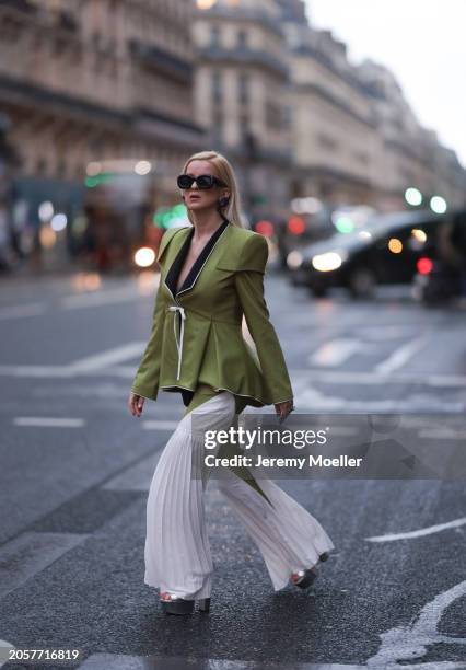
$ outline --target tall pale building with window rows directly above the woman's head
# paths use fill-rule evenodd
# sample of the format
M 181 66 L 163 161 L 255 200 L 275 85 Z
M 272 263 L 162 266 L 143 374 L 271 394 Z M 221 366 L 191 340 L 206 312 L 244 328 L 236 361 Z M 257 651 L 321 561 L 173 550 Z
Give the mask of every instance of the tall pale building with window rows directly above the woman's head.
M 291 76 L 276 0 L 197 0 L 197 120 L 237 169 L 244 209 L 280 216 L 290 197 Z

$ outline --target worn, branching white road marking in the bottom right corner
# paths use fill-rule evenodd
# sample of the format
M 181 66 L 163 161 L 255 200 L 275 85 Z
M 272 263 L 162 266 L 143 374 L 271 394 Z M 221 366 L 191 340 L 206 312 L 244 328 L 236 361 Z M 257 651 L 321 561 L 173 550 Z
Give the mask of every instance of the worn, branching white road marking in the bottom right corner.
M 431 645 L 444 643 L 446 645 L 464 645 L 464 637 L 441 635 L 438 633 L 438 625 L 446 608 L 458 598 L 466 593 L 466 580 L 461 581 L 447 591 L 436 596 L 428 602 L 421 610 L 419 616 L 415 616 L 406 626 L 397 626 L 382 633 L 381 647 L 366 661 L 369 669 L 380 670 L 381 668 L 400 668 L 410 666 L 399 666 L 397 661 L 410 660 L 426 656 L 427 648 Z M 416 668 L 427 668 L 429 663 L 412 666 Z M 430 663 L 431 668 L 440 668 L 440 663 Z M 444 666 L 447 667 L 447 666 Z M 461 668 L 462 666 L 459 666 Z M 463 663 L 464 667 L 464 663 Z

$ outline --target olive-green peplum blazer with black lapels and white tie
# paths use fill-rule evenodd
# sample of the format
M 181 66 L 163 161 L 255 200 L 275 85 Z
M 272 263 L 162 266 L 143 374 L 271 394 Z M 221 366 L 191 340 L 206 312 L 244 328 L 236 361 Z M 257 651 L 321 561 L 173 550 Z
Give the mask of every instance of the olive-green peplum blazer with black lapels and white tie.
M 229 222 L 193 284 L 187 289 L 184 284 L 174 296 L 166 276 L 190 230 L 172 228 L 162 238 L 152 331 L 131 391 L 155 401 L 159 390 L 194 391 L 206 383 L 233 393 L 241 408 L 291 400 L 287 365 L 264 298 L 267 240 Z M 243 314 L 257 356 L 243 337 Z

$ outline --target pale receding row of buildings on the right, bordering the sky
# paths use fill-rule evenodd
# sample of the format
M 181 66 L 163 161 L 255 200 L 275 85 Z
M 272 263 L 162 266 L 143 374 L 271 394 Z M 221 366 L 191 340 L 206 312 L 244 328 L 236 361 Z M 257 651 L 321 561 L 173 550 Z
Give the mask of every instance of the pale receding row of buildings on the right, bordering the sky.
M 372 61 L 351 65 L 343 43 L 290 8 L 284 31 L 296 197 L 389 211 L 403 209 L 406 188 L 417 187 L 465 205 L 464 168 L 420 125 L 389 70 Z

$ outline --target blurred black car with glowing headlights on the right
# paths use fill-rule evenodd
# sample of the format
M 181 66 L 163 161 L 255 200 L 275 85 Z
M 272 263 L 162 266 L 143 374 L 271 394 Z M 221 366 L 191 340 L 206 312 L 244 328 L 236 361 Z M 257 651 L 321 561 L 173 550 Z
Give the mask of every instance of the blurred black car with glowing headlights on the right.
M 354 298 L 373 294 L 377 285 L 410 284 L 418 261 L 435 255 L 436 231 L 446 216 L 430 210 L 377 215 L 351 233 L 291 252 L 291 280 L 316 297 L 345 287 Z

